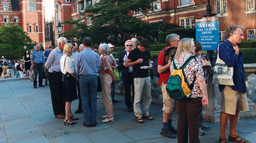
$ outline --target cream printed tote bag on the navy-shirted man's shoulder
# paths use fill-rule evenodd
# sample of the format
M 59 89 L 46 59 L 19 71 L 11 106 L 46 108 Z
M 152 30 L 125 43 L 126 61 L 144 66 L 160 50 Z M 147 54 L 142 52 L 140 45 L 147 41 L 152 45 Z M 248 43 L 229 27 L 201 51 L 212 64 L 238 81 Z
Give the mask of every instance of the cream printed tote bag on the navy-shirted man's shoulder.
M 220 45 L 220 44 L 219 44 Z M 228 67 L 223 60 L 219 57 L 219 45 L 218 55 L 213 71 L 213 83 L 220 85 L 234 85 L 233 83 L 233 67 Z M 227 46 L 227 48 L 229 48 Z

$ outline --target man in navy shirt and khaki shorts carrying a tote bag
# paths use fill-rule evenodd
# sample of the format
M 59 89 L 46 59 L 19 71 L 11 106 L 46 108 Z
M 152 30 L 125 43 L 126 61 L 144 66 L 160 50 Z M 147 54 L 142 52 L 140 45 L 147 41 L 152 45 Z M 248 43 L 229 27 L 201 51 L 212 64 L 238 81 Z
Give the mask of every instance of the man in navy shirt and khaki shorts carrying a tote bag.
M 243 36 L 244 27 L 240 25 L 231 25 L 227 27 L 225 36 L 227 40 L 219 44 L 219 51 L 216 51 L 216 55 L 220 57 L 224 63 L 233 67 L 233 86 L 219 85 L 221 92 L 221 108 L 220 114 L 220 139 L 219 143 L 227 143 L 226 127 L 229 118 L 230 131 L 229 141 L 250 143 L 245 139 L 242 139 L 236 133 L 236 124 L 238 121 L 239 111 L 249 111 L 246 85 L 245 85 L 245 73 L 242 61 L 242 53 L 239 50 L 238 43 L 244 39 Z

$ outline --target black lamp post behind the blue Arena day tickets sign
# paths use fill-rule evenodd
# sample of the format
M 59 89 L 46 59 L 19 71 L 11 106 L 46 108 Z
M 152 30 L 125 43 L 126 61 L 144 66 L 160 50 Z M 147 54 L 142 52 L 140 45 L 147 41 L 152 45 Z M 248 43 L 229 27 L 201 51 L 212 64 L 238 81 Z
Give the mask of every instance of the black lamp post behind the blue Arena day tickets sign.
M 201 1 L 202 2 L 202 1 Z M 206 11 L 207 13 L 204 14 L 204 17 L 211 17 L 211 16 L 216 16 L 216 13 L 211 13 L 212 7 L 210 5 L 210 0 L 208 0 L 208 4 L 206 4 Z M 213 50 L 207 50 L 207 56 L 211 61 L 211 65 L 214 66 L 216 62 L 216 57 L 214 56 L 214 51 Z

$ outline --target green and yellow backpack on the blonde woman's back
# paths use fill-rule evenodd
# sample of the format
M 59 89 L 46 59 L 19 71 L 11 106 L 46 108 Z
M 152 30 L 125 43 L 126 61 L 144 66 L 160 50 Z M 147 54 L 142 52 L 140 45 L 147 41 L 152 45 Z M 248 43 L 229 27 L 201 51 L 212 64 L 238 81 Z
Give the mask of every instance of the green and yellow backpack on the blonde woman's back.
M 174 71 L 172 74 L 169 76 L 167 83 L 166 83 L 166 90 L 170 96 L 170 98 L 173 99 L 181 99 L 184 97 L 188 97 L 191 93 L 191 90 L 194 87 L 195 79 L 196 76 L 194 77 L 193 83 L 188 86 L 188 84 L 185 81 L 185 76 L 184 76 L 184 71 L 183 69 L 188 65 L 188 63 L 195 58 L 195 56 L 190 56 L 188 59 L 185 61 L 181 67 L 177 68 L 174 60 L 173 60 L 173 68 Z

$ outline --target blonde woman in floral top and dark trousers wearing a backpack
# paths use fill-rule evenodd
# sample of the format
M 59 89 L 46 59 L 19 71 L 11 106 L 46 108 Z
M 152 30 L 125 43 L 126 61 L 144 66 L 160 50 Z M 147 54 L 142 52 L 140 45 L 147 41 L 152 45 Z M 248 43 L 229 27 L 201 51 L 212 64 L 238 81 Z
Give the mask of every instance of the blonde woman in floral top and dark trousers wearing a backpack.
M 174 60 L 178 68 L 183 65 L 189 56 L 195 55 L 195 49 L 192 38 L 181 39 Z M 174 71 L 173 64 L 170 66 L 170 71 L 171 73 Z M 188 143 L 188 131 L 189 142 L 200 143 L 198 138 L 199 118 L 202 105 L 208 104 L 208 95 L 204 81 L 204 72 L 198 58 L 192 59 L 188 63 L 184 68 L 184 73 L 188 85 L 193 83 L 195 76 L 196 80 L 190 96 L 177 100 L 179 113 L 177 125 L 178 143 Z

